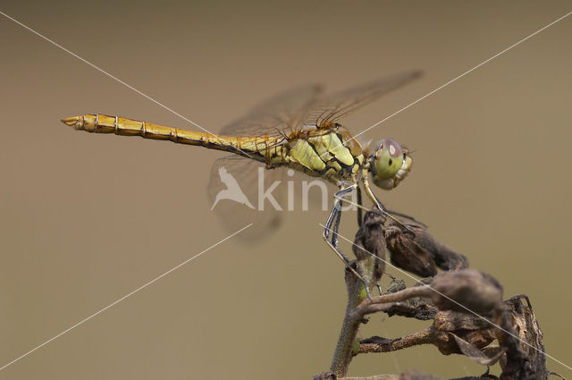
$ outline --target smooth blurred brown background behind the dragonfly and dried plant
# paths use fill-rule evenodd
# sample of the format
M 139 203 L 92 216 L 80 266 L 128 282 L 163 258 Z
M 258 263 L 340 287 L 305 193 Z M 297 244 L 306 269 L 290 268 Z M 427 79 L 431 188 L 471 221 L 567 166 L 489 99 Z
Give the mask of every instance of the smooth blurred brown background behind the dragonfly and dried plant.
M 1 10 L 217 131 L 292 85 L 425 77 L 351 116 L 407 106 L 570 11 L 566 1 L 115 3 L 4 0 Z M 89 135 L 60 118 L 189 123 L 0 17 L 0 366 L 228 235 L 206 182 L 221 153 Z M 572 18 L 368 133 L 416 149 L 377 193 L 526 293 L 547 352 L 572 364 L 569 194 Z M 330 365 L 343 268 L 317 223 L 288 215 L 261 244 L 226 241 L 0 372 L 10 379 L 310 378 Z M 353 215 L 342 233 L 353 237 Z M 292 236 L 297 236 L 292 239 Z M 343 246 L 349 252 L 347 245 Z M 374 318 L 364 336 L 426 324 Z M 351 375 L 484 367 L 433 347 L 354 360 Z M 549 359 L 549 367 L 570 376 Z M 494 372 L 498 373 L 498 368 Z

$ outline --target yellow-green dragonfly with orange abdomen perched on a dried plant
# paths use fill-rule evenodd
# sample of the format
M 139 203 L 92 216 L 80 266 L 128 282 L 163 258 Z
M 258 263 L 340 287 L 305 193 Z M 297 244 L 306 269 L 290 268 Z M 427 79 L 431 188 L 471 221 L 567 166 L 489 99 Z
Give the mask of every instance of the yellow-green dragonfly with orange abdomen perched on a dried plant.
M 383 207 L 375 197 L 371 183 L 384 190 L 394 189 L 410 172 L 413 160 L 408 149 L 391 138 L 376 143 L 358 142 L 341 120 L 391 90 L 415 80 L 420 74 L 418 71 L 400 72 L 330 96 L 324 96 L 322 87 L 316 85 L 290 89 L 255 107 L 250 114 L 224 127 L 218 134 L 105 114 L 83 114 L 64 118 L 62 122 L 76 130 L 91 133 L 140 136 L 222 150 L 240 157 L 241 165 L 254 162 L 271 171 L 289 168 L 333 183 L 337 191 L 323 238 L 364 283 L 369 296 L 366 281 L 350 266 L 349 258 L 339 248 L 344 197 L 357 191 L 357 203 L 361 205 L 363 189 L 375 208 L 390 217 L 391 214 L 400 215 Z M 252 170 L 243 165 L 235 173 L 248 175 Z M 360 209 L 357 219 L 360 224 Z

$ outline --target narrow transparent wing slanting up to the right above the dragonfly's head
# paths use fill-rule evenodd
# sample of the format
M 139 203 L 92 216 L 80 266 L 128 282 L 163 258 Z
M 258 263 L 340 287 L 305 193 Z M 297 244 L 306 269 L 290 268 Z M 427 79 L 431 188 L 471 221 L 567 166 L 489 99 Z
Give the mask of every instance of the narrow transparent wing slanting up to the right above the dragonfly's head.
M 321 97 L 307 108 L 302 120 L 307 125 L 327 128 L 334 122 L 339 122 L 349 114 L 353 114 L 358 108 L 366 106 L 391 90 L 398 89 L 420 76 L 419 71 L 401 72 Z

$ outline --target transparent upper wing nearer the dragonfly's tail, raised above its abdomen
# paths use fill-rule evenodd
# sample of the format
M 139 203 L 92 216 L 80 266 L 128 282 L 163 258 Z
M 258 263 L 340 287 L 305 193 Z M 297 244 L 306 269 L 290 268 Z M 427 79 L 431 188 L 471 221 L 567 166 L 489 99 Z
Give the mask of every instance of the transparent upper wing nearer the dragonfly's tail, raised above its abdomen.
M 223 127 L 227 136 L 281 136 L 299 125 L 304 110 L 315 101 L 322 88 L 318 85 L 299 86 L 284 91 L 256 106 L 245 117 Z

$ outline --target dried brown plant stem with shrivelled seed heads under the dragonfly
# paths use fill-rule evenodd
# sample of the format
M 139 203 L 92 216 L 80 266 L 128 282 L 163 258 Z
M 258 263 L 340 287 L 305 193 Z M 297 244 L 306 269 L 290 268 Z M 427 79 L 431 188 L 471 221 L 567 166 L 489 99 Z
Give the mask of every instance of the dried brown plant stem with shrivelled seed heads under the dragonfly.
M 353 247 L 357 260 L 352 267 L 370 288 L 379 282 L 385 269 L 386 251 L 391 262 L 415 274 L 431 278 L 406 288 L 394 280 L 388 292 L 366 299 L 363 283 L 346 271 L 348 305 L 330 371 L 315 380 L 433 380 L 434 376 L 415 371 L 401 375 L 343 377 L 354 356 L 363 353 L 403 350 L 420 344 L 433 344 L 442 354 L 463 354 L 475 362 L 491 366 L 501 361 L 501 380 L 546 379 L 542 332 L 526 296 L 502 301 L 502 287 L 489 274 L 467 269 L 468 261 L 449 247 L 435 241 L 421 224 L 405 220 L 384 225 L 381 215 L 366 213 Z M 445 272 L 437 273 L 437 268 Z M 526 305 L 522 303 L 526 300 Z M 357 331 L 369 314 L 433 319 L 433 325 L 400 338 L 373 336 L 357 341 Z M 501 328 L 497 328 L 500 325 Z M 491 343 L 497 339 L 499 345 Z M 464 377 L 493 379 L 495 376 Z M 458 379 L 460 380 L 460 379 Z

